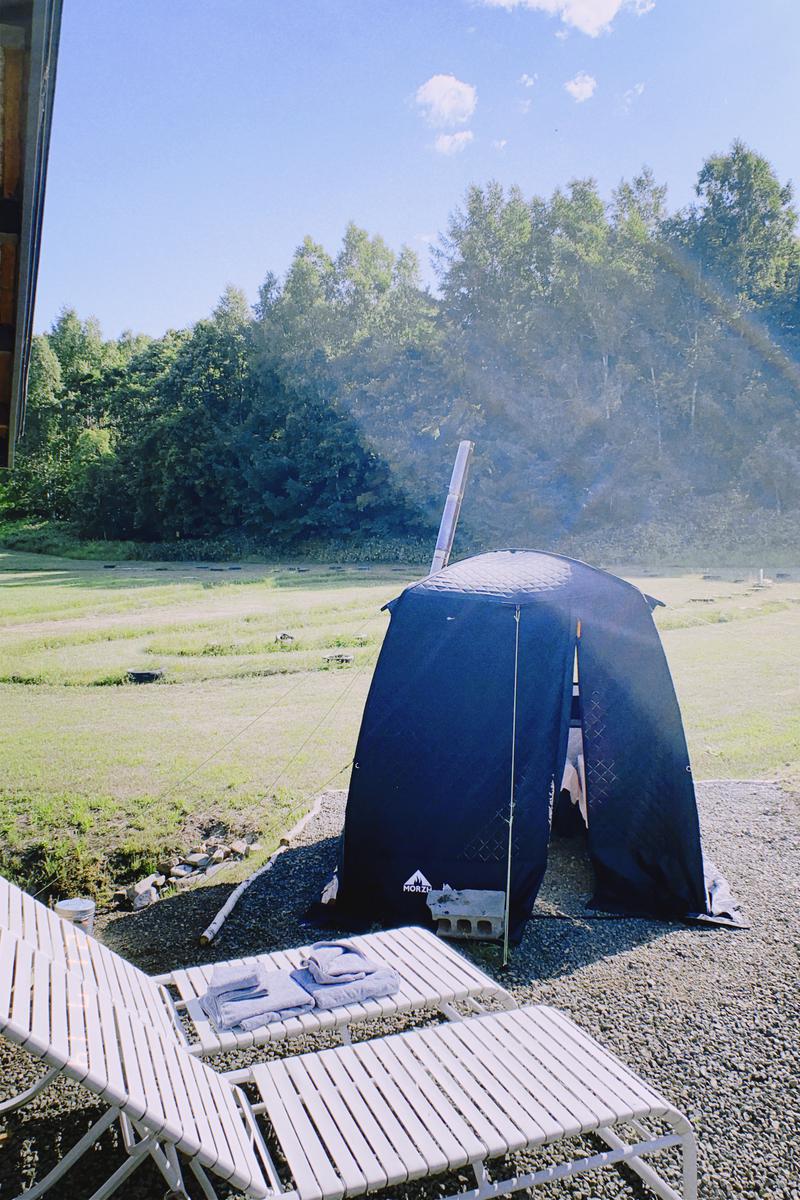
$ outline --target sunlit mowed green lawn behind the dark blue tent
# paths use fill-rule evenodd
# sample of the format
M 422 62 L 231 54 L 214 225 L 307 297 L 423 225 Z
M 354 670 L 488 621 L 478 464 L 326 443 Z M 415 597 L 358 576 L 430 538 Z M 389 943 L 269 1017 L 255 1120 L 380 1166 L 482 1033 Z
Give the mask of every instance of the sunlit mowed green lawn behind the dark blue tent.
M 416 574 L 0 552 L 2 868 L 102 890 L 212 830 L 270 850 L 345 786 L 380 608 Z M 668 604 L 696 776 L 796 781 L 800 582 L 630 577 Z M 353 662 L 327 664 L 337 650 Z

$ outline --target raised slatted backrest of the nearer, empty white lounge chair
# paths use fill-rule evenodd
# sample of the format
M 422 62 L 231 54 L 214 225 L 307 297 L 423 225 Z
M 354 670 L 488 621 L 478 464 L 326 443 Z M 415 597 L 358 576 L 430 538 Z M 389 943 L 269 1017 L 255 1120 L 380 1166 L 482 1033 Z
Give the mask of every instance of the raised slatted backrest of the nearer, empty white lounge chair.
M 269 1156 L 257 1157 L 263 1142 L 241 1090 L 155 1022 L 139 1020 L 64 961 L 7 930 L 0 930 L 0 1033 L 46 1062 L 50 1073 L 83 1084 L 109 1105 L 19 1200 L 48 1192 L 115 1121 L 126 1159 L 91 1200 L 110 1196 L 148 1157 L 169 1187 L 186 1195 L 178 1151 L 188 1156 L 199 1178 L 205 1168 L 248 1196 L 270 1194 Z M 215 1195 L 205 1180 L 204 1190 Z

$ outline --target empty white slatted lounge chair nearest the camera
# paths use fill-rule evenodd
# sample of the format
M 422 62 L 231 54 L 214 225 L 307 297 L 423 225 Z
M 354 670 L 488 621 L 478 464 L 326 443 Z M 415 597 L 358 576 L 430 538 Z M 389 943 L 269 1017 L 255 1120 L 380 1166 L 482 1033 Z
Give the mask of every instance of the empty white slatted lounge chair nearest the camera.
M 114 1121 L 126 1158 L 91 1200 L 107 1200 L 148 1156 L 186 1196 L 179 1152 L 207 1200 L 216 1195 L 209 1172 L 254 1200 L 344 1200 L 469 1166 L 475 1187 L 457 1195 L 489 1200 L 613 1163 L 627 1163 L 662 1200 L 697 1195 L 686 1118 L 552 1008 L 474 1016 L 218 1075 L 76 971 L 2 931 L 0 1033 L 109 1105 L 19 1200 L 49 1190 Z M 649 1130 L 650 1120 L 669 1132 Z M 608 1148 L 524 1174 L 511 1168 L 507 1177 L 489 1174 L 494 1159 L 582 1134 Z M 644 1162 L 672 1146 L 682 1150 L 680 1190 Z

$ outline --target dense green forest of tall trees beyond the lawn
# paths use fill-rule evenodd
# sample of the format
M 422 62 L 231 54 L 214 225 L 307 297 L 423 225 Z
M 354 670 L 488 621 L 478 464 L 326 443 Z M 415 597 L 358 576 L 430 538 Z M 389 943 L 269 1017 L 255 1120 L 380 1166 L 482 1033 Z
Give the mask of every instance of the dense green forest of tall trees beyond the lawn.
M 609 203 L 471 187 L 434 250 L 307 238 L 251 311 L 229 288 L 161 338 L 65 308 L 32 349 L 4 516 L 233 551 L 429 541 L 459 438 L 473 545 L 793 545 L 800 240 L 741 143 L 670 212 L 644 169 Z M 222 540 L 222 541 L 219 541 Z M 163 547 L 162 547 L 163 550 Z

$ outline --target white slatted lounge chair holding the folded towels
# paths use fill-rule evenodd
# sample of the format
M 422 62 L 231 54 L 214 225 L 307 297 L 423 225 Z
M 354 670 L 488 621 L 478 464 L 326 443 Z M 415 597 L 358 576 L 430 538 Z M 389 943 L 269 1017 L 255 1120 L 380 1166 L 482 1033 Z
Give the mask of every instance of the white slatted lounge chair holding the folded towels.
M 207 989 L 212 964 L 156 977 L 145 974 L 122 955 L 56 917 L 47 905 L 0 876 L 1 929 L 65 962 L 94 985 L 119 995 L 137 1016 L 155 1022 L 163 1033 L 176 1034 L 187 1043 L 192 1054 L 203 1057 L 321 1030 L 338 1030 L 347 1042 L 349 1027 L 359 1021 L 416 1009 L 438 1009 L 452 1019 L 461 1015 L 458 1004 L 471 1012 L 482 1010 L 487 1001 L 494 1001 L 503 1008 L 516 1007 L 510 992 L 434 934 L 425 929 L 392 929 L 348 941 L 369 958 L 397 971 L 401 986 L 396 995 L 329 1012 L 312 1009 L 303 1016 L 272 1021 L 252 1033 L 219 1032 L 199 1003 L 199 997 Z M 300 965 L 305 953 L 306 948 L 300 947 L 233 961 L 246 964 L 258 959 L 271 970 L 293 970 Z M 174 996 L 169 989 L 174 990 Z

